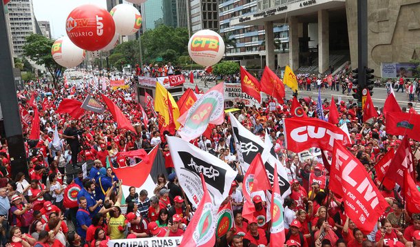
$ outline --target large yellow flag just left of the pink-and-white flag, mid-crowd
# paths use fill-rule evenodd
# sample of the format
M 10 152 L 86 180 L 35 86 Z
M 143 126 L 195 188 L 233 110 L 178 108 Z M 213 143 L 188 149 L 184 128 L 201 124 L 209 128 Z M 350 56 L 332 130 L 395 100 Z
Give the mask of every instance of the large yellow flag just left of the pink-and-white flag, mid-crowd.
M 164 88 L 158 81 L 156 81 L 156 95 L 155 95 L 155 110 L 159 112 L 160 117 L 165 119 L 165 124 L 169 124 L 169 107 L 168 97 L 172 105 L 172 115 L 174 116 L 174 122 L 176 129 L 178 130 L 180 124 L 176 119 L 180 117 L 180 111 L 174 97 Z

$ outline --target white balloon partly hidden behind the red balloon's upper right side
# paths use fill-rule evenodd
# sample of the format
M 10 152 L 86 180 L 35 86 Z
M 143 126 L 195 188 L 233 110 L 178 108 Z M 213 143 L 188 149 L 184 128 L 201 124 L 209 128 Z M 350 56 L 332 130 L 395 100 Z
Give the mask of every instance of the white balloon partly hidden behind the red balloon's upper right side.
M 115 32 L 121 35 L 135 34 L 141 27 L 140 12 L 129 4 L 118 4 L 111 10 L 115 23 Z

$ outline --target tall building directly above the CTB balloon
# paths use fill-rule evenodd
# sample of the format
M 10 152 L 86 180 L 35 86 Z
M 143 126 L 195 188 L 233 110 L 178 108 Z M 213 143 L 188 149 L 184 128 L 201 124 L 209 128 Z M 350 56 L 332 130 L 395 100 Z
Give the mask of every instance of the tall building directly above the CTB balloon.
M 191 31 L 210 29 L 219 32 L 218 0 L 189 0 Z

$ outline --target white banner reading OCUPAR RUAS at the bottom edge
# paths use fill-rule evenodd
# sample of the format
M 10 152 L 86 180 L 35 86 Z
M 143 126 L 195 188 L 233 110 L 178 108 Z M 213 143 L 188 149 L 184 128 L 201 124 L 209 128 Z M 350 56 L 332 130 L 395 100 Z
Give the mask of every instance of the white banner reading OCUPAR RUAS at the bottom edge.
M 178 246 L 182 237 L 142 237 L 139 239 L 111 239 L 108 247 L 167 247 Z

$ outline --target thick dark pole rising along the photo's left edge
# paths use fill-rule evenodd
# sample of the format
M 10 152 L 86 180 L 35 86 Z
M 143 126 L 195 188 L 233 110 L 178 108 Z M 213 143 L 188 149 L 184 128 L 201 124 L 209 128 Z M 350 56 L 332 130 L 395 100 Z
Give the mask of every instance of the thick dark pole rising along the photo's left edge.
M 12 176 L 17 172 L 23 172 L 28 177 L 28 163 L 26 161 L 25 146 L 23 144 L 21 116 L 17 103 L 16 88 L 10 55 L 9 37 L 6 26 L 6 15 L 3 1 L 0 1 L 0 103 L 3 112 L 3 124 L 8 142 L 10 166 Z

